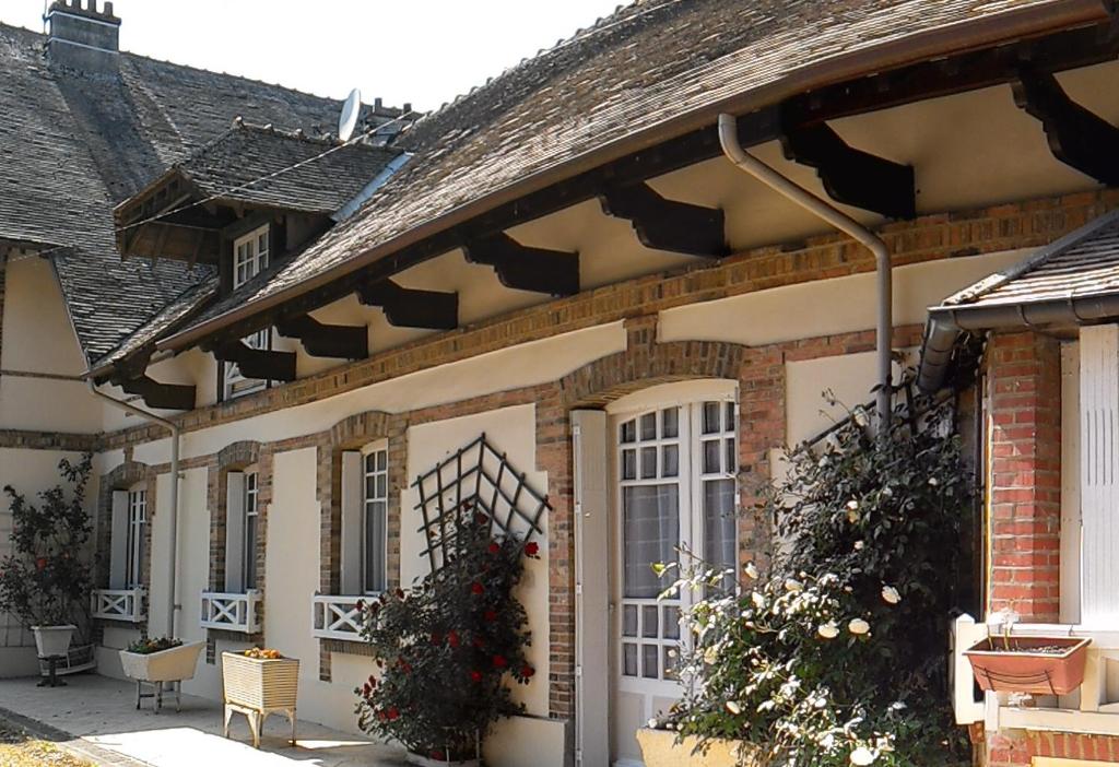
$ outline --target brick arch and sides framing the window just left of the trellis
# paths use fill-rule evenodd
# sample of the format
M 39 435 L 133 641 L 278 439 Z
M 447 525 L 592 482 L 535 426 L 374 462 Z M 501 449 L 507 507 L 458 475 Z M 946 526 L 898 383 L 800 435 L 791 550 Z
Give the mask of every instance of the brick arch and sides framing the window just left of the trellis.
M 341 593 L 341 479 L 342 453 L 365 447 L 372 442 L 388 442 L 388 586 L 399 584 L 401 487 L 407 458 L 406 418 L 383 410 L 366 410 L 344 418 L 327 433 L 319 445 L 319 590 Z

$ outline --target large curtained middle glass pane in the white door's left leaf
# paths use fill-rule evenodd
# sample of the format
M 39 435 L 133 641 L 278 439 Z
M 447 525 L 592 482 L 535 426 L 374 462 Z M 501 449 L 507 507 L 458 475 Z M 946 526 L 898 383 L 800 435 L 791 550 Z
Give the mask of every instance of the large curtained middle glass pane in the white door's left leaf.
M 622 519 L 623 593 L 631 598 L 653 598 L 665 584 L 653 574 L 652 565 L 676 561 L 680 540 L 676 484 L 623 489 Z

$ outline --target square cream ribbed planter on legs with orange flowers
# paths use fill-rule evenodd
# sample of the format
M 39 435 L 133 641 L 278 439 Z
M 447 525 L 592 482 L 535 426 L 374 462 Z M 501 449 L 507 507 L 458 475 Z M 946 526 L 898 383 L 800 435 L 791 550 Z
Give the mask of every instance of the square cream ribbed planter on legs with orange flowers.
M 253 747 L 261 747 L 261 730 L 269 714 L 282 712 L 291 720 L 291 745 L 295 745 L 295 698 L 299 691 L 299 660 L 256 659 L 222 653 L 222 689 L 225 701 L 224 735 L 229 737 L 234 713 L 248 719 Z

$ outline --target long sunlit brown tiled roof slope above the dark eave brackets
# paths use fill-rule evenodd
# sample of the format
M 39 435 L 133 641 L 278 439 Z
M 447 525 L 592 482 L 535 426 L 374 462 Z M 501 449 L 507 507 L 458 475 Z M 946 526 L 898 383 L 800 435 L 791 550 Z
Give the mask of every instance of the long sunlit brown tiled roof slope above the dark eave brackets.
M 402 141 L 416 158 L 364 208 L 274 276 L 192 326 L 340 276 L 363 253 L 442 226 L 534 176 L 573 167 L 665 124 L 773 92 L 798 70 L 920 32 L 1061 0 L 638 0 L 430 115 Z M 921 57 L 921 46 L 910 56 Z M 711 115 L 714 122 L 714 115 Z M 527 180 L 527 181 L 526 181 Z M 433 224 L 434 222 L 434 224 Z M 426 225 L 426 226 L 425 226 Z M 173 343 L 173 342 L 172 342 Z

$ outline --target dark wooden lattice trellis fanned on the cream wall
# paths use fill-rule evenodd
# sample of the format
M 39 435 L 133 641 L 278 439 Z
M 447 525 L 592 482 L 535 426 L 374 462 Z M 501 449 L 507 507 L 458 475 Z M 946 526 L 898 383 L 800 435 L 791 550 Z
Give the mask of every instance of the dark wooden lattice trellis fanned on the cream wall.
M 464 521 L 483 521 L 490 536 L 517 536 L 527 543 L 544 532 L 540 520 L 552 508 L 548 496 L 529 485 L 525 473 L 485 434 L 417 476 L 412 486 L 420 498 L 415 510 L 423 515 L 419 531 L 427 541 L 422 553 L 432 572 L 453 553 Z

